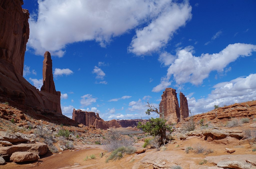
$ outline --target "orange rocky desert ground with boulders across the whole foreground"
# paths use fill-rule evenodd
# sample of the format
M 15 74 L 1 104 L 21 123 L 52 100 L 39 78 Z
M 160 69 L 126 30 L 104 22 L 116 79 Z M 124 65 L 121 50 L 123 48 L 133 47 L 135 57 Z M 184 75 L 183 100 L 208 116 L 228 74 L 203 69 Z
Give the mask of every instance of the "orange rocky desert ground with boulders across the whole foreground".
M 250 101 L 188 117 L 173 125 L 172 140 L 159 151 L 142 147 L 147 134 L 118 128 L 137 151 L 106 163 L 110 153 L 101 144 L 108 143 L 108 130 L 56 125 L 0 104 L 1 168 L 256 168 L 255 111 Z M 195 130 L 188 132 L 191 119 Z

